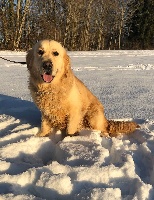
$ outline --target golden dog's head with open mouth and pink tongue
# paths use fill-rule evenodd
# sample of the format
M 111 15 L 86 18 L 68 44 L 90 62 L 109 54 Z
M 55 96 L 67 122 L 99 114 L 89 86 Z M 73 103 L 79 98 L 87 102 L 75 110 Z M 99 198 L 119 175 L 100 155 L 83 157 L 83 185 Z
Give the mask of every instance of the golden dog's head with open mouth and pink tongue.
M 26 57 L 30 74 L 38 82 L 51 83 L 69 68 L 69 57 L 60 43 L 42 40 L 28 51 Z

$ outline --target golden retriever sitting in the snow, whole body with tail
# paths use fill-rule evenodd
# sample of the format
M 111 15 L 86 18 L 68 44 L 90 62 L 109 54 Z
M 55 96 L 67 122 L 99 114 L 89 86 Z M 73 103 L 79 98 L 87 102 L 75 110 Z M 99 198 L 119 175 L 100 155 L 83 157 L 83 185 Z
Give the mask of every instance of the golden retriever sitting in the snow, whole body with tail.
M 27 53 L 29 88 L 42 114 L 38 136 L 61 130 L 74 135 L 99 130 L 101 136 L 134 132 L 135 122 L 107 120 L 101 102 L 73 74 L 70 59 L 60 43 L 42 40 Z

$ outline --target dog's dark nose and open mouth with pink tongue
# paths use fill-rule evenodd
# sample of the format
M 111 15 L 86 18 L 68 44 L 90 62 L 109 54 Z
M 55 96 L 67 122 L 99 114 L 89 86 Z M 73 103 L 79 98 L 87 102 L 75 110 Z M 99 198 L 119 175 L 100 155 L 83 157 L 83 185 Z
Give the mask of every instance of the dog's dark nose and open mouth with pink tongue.
M 43 62 L 41 76 L 43 81 L 46 83 L 50 83 L 54 79 L 54 76 L 52 76 L 52 68 L 53 64 L 51 61 Z

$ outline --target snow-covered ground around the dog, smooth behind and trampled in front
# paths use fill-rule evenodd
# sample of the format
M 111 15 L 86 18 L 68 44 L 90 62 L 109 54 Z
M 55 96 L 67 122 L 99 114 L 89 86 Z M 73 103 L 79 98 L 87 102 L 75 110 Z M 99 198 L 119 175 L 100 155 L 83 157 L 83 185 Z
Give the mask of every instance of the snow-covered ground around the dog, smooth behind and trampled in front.
M 154 51 L 69 52 L 72 68 L 109 119 L 134 120 L 129 136 L 96 131 L 38 138 L 40 113 L 26 65 L 0 59 L 0 199 L 153 200 Z M 25 61 L 24 52 L 0 51 Z

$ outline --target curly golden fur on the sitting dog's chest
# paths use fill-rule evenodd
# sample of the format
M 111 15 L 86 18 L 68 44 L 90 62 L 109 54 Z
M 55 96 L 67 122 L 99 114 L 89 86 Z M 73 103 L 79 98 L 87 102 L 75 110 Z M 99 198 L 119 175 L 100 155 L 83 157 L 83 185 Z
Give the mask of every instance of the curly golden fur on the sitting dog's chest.
M 42 114 L 48 118 L 53 127 L 65 128 L 68 118 L 68 102 L 66 92 L 61 90 L 39 90 L 35 92 L 34 101 Z

